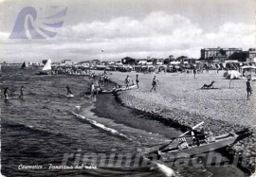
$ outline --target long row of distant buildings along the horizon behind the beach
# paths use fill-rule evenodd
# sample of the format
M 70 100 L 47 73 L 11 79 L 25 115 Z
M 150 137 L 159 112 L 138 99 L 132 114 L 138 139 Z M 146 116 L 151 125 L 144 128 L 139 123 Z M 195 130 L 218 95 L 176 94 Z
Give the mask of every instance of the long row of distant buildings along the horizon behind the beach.
M 28 65 L 44 65 L 47 60 L 39 62 L 27 62 Z M 125 57 L 118 62 L 106 62 L 102 60 L 92 60 L 84 62 L 72 62 L 71 60 L 63 60 L 62 62 L 53 62 L 55 65 L 176 65 L 176 64 L 194 64 L 194 63 L 222 63 L 222 62 L 256 62 L 256 48 L 249 48 L 243 51 L 242 48 L 203 48 L 201 49 L 200 59 L 193 59 L 187 56 L 180 56 L 174 58 L 170 55 L 166 59 L 156 59 L 147 57 L 146 59 L 134 59 Z M 4 62 L 3 64 L 7 64 Z

